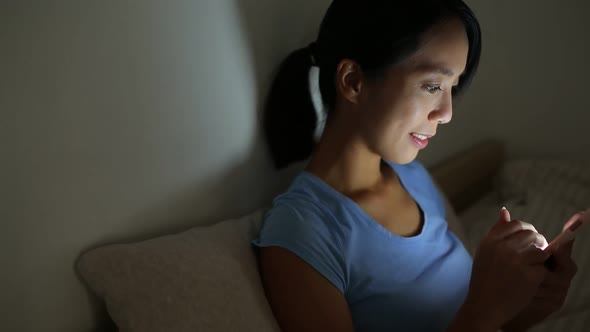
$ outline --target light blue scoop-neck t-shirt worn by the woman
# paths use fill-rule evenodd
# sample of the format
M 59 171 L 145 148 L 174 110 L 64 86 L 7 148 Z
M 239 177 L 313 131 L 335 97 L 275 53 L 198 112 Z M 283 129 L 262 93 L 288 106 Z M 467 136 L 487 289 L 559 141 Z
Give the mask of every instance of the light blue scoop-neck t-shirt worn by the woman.
M 427 170 L 417 161 L 389 165 L 422 210 L 420 234 L 395 235 L 303 172 L 275 198 L 253 243 L 289 250 L 334 284 L 356 331 L 444 331 L 467 295 L 471 257 L 449 231 Z

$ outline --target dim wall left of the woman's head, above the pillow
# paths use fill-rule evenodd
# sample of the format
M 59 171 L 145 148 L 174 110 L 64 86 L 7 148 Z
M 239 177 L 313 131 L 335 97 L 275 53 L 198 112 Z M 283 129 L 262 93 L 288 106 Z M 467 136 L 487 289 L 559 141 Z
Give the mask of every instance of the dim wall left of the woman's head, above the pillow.
M 284 188 L 261 97 L 327 3 L 2 2 L 2 330 L 91 330 L 82 250 L 246 213 Z

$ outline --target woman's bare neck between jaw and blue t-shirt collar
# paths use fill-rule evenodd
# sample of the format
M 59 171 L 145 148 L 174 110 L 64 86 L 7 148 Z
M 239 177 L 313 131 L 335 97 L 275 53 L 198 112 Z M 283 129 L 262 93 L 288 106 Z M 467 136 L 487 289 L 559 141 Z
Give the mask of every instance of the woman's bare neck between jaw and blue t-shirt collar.
M 358 135 L 358 124 L 333 114 L 306 171 L 345 195 L 372 190 L 395 178 L 381 156 L 369 150 Z

